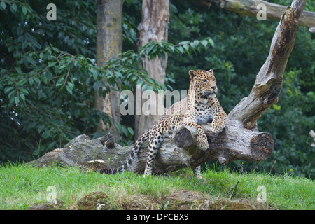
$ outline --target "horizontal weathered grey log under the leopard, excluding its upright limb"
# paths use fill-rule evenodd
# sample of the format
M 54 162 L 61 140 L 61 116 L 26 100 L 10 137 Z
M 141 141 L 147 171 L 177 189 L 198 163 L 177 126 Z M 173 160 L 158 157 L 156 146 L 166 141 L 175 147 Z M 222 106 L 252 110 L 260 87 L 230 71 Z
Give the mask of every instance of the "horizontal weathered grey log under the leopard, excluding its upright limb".
M 172 172 L 183 167 L 197 167 L 211 160 L 218 160 L 225 165 L 233 160 L 265 160 L 273 150 L 274 141 L 269 133 L 248 130 L 227 124 L 223 133 L 211 132 L 211 123 L 202 125 L 207 134 L 209 149 L 200 151 L 196 146 L 195 137 L 183 128 L 173 137 L 165 139 L 156 157 L 154 173 Z M 108 148 L 102 138 L 90 140 L 86 135 L 80 135 L 66 144 L 64 148 L 53 153 L 52 162 L 64 165 L 85 165 L 87 167 L 116 168 L 128 158 L 133 145 Z M 144 172 L 147 160 L 147 142 L 139 150 L 137 158 L 132 162 L 129 170 Z M 56 156 L 57 155 L 57 156 Z M 50 164 L 52 153 L 46 153 L 42 158 L 33 161 L 35 165 Z M 102 160 L 104 162 L 90 162 Z

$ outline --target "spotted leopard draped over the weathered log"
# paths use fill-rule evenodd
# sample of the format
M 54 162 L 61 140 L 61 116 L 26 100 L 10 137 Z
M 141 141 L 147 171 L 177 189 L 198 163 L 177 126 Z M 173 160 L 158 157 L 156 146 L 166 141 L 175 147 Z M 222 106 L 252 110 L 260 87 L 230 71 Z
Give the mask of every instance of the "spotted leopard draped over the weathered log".
M 172 104 L 160 120 L 156 121 L 151 129 L 137 139 L 124 165 L 116 169 L 102 169 L 100 171 L 102 174 L 124 172 L 132 164 L 142 144 L 148 140 L 148 157 L 144 177 L 152 175 L 155 157 L 162 142 L 183 127 L 196 136 L 197 147 L 202 151 L 209 148 L 209 143 L 201 124 L 212 123 L 212 132 L 223 132 L 224 120 L 227 115 L 216 98 L 218 87 L 213 69 L 209 71 L 190 70 L 188 73 L 190 85 L 187 96 Z M 197 179 L 202 179 L 200 166 L 193 167 L 193 174 Z

